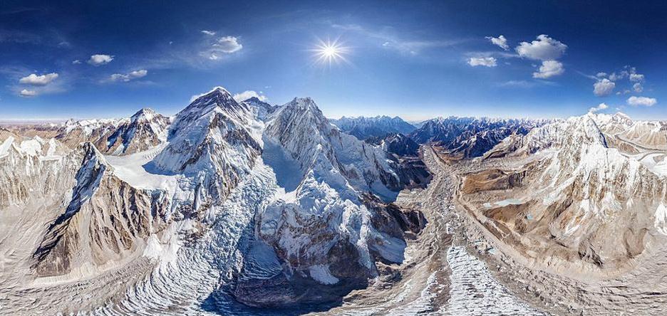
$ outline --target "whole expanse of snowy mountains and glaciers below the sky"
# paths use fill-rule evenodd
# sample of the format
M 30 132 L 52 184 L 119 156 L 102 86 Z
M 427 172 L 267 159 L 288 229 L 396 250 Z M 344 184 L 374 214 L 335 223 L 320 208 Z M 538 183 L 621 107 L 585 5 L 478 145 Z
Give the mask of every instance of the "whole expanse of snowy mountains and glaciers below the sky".
M 538 275 L 508 287 L 561 289 L 572 306 L 633 297 L 659 285 L 611 293 L 589 278 L 660 275 L 666 170 L 667 125 L 621 113 L 415 129 L 328 120 L 311 98 L 237 102 L 222 87 L 174 117 L 3 127 L 0 303 L 25 315 L 442 312 L 451 297 L 509 295 L 464 295 L 475 280 L 461 288 L 471 274 L 457 271 L 482 273 L 482 259 Z M 466 246 L 482 247 L 477 263 L 457 255 Z

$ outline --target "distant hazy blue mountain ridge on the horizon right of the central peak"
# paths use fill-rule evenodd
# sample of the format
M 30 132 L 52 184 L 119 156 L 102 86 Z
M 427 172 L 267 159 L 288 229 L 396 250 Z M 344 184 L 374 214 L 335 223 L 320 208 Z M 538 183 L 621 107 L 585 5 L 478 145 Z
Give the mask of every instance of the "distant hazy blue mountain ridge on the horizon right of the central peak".
M 408 134 L 416 129 L 410 123 L 400 117 L 376 116 L 376 117 L 341 117 L 338 120 L 330 120 L 331 123 L 343 132 L 353 135 L 358 139 L 365 140 L 368 137 L 385 137 L 388 134 Z

